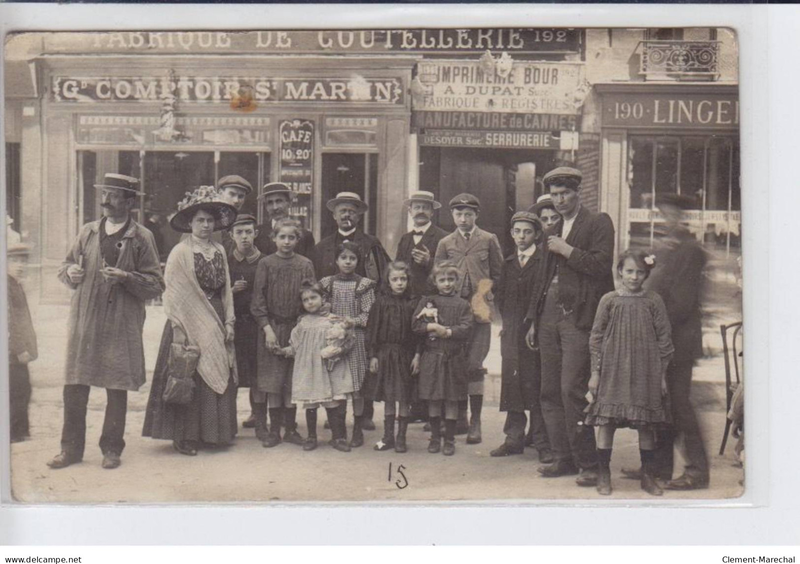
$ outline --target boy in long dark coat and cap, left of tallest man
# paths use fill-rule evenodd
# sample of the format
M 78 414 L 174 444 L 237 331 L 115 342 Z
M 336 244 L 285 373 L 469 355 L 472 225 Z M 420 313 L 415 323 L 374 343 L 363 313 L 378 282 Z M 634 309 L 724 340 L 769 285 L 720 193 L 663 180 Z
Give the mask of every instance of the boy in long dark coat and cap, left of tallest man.
M 516 212 L 511 218 L 511 236 L 517 248 L 506 257 L 500 282 L 494 291 L 494 302 L 502 316 L 500 411 L 506 411 L 506 424 L 503 427 L 506 441 L 491 451 L 490 455 L 522 454 L 525 450 L 527 410 L 530 411 L 531 435 L 539 461 L 551 463 L 550 441 L 539 405 L 542 387 L 539 353 L 525 344 L 525 316 L 540 273 L 543 232 L 542 222 L 534 213 Z

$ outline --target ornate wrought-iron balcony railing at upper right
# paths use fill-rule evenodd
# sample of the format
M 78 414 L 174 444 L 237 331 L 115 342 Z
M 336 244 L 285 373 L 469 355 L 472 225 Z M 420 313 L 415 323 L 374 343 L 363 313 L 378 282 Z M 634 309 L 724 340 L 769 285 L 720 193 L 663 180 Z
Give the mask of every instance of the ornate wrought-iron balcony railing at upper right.
M 650 80 L 658 78 L 703 77 L 716 80 L 719 76 L 717 41 L 642 41 L 639 73 Z

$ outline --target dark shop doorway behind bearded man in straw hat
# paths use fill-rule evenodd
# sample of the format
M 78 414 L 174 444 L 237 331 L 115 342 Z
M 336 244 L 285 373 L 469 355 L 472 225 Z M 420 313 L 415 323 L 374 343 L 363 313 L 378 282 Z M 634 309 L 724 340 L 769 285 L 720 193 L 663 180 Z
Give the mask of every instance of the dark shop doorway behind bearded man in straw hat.
M 373 212 L 378 201 L 377 153 L 322 153 L 322 236 L 336 231 L 336 222 L 326 209 L 326 202 L 340 192 L 357 193 L 370 206 L 362 217 L 364 232 L 375 233 L 378 214 Z

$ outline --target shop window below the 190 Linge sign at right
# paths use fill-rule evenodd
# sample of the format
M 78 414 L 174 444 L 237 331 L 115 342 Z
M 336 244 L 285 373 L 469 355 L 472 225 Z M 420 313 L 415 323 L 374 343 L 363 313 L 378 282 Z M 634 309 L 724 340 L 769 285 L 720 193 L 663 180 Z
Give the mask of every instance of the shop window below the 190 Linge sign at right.
M 729 136 L 629 137 L 630 246 L 652 246 L 662 232 L 658 194 L 692 197 L 686 223 L 707 246 L 738 248 L 741 233 L 739 146 Z

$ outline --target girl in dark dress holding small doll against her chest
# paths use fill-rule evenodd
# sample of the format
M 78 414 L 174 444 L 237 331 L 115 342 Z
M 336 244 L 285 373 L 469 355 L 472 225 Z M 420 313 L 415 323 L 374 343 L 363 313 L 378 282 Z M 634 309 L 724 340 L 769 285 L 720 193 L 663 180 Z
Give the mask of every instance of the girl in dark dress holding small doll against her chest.
M 470 304 L 456 293 L 458 266 L 451 260 L 434 265 L 430 274 L 437 296 L 422 296 L 414 311 L 412 328 L 421 336 L 434 336 L 422 343 L 419 361 L 419 399 L 428 400 L 430 443 L 428 452 L 455 454 L 455 423 L 458 402 L 466 401 L 466 343 L 472 332 Z M 436 308 L 438 322 L 430 322 L 420 313 L 428 303 Z M 444 413 L 442 414 L 442 411 Z M 442 415 L 445 416 L 445 441 L 442 447 Z

